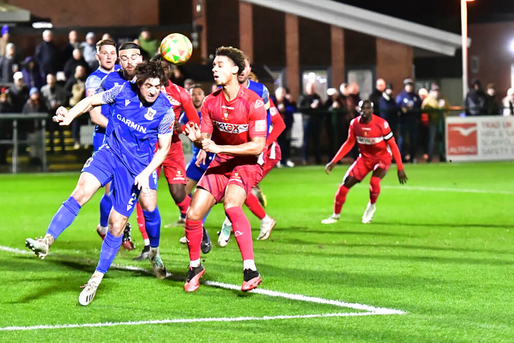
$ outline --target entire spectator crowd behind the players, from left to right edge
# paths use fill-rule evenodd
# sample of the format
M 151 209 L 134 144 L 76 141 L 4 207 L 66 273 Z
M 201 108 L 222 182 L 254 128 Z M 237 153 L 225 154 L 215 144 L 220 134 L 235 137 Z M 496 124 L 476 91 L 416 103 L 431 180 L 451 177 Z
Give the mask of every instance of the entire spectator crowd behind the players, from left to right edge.
M 41 42 L 35 47 L 32 56 L 23 59 L 10 42 L 9 27 L 4 25 L 0 37 L 0 114 L 1 113 L 48 113 L 50 152 L 54 152 L 54 132 L 58 132 L 61 151 L 65 150 L 63 128 L 51 121 L 59 106 L 74 106 L 85 97 L 85 80 L 98 68 L 96 43 L 100 39 L 112 39 L 104 33 L 97 37 L 88 32 L 80 42 L 76 30 L 69 31 L 68 42 L 57 46 L 51 30 L 44 30 Z M 142 29 L 135 41 L 140 45 L 143 59 L 153 56 L 159 42 L 148 29 Z M 118 42 L 122 43 L 122 42 Z M 171 81 L 186 88 L 194 84 L 186 79 L 180 69 L 173 68 Z M 416 155 L 423 150 L 423 159 L 432 161 L 435 157 L 445 160 L 444 118 L 449 114 L 450 104 L 441 92 L 439 85 L 430 89 L 414 89 L 411 78 L 403 80 L 403 88 L 395 95 L 392 83 L 376 80 L 370 96 L 374 104 L 374 114 L 386 119 L 398 142 L 402 158 L 406 162 L 416 161 Z M 216 89 L 213 85 L 211 91 Z M 272 92 L 273 93 L 273 92 Z M 305 85 L 305 91 L 298 101 L 291 98 L 288 89 L 278 87 L 271 96 L 286 124 L 279 137 L 282 160 L 279 166 L 293 166 L 290 160 L 293 128 L 293 114 L 302 114 L 303 141 L 302 163 L 322 163 L 322 153 L 335 154 L 346 139 L 350 121 L 359 115 L 359 101 L 362 100 L 359 85 L 355 82 L 342 83 L 338 88 L 328 88 L 326 96 L 316 93 L 314 82 Z M 323 99 L 327 99 L 323 101 Z M 474 115 L 514 115 L 514 89 L 507 91 L 501 102 L 493 84 L 485 91 L 480 80 L 473 80 L 464 101 L 466 116 Z M 89 118 L 82 117 L 72 123 L 71 133 L 74 147 L 80 147 L 80 126 Z M 12 127 L 3 121 L 0 139 L 9 138 Z M 37 122 L 21 122 L 20 138 L 26 139 L 38 130 Z M 322 139 L 324 138 L 324 139 Z M 323 144 L 327 147 L 322 151 Z M 0 163 L 5 163 L 6 146 L 0 146 Z M 357 154 L 356 149 L 353 151 Z

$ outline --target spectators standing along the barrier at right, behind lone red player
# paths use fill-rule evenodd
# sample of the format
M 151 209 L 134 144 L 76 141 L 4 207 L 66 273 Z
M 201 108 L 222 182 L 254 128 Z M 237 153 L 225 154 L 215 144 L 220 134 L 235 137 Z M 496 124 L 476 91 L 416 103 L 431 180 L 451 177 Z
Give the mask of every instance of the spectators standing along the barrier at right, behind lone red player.
M 315 83 L 308 82 L 305 93 L 298 99 L 296 110 L 303 115 L 303 164 L 322 163 L 323 136 L 327 155 L 334 155 L 347 138 L 350 121 L 359 115 L 359 101 L 364 100 L 357 83 L 328 88 L 326 96 L 323 102 L 316 94 Z M 415 92 L 414 80 L 406 78 L 403 88 L 395 95 L 392 83 L 378 79 L 369 99 L 374 114 L 389 122 L 404 162 L 414 163 L 417 156 L 423 156 L 427 162 L 446 160 L 445 117 L 450 114 L 451 106 L 438 84 Z M 499 102 L 494 84 L 488 84 L 484 92 L 480 80 L 472 80 L 461 116 L 475 115 L 514 115 L 514 88 L 509 88 L 507 96 Z M 356 157 L 357 151 L 353 154 Z

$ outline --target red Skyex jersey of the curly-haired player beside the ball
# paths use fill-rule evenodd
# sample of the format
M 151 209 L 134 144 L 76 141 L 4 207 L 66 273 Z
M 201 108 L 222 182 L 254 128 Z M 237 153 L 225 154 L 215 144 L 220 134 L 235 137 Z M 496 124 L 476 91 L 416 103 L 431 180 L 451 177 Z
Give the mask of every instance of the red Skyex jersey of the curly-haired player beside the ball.
M 227 101 L 222 89 L 208 95 L 201 105 L 200 131 L 212 133 L 217 145 L 241 145 L 253 137 L 266 137 L 266 109 L 261 97 L 245 87 L 239 88 L 237 96 Z M 216 154 L 215 159 L 235 158 Z M 258 156 L 237 156 L 242 164 L 255 164 Z

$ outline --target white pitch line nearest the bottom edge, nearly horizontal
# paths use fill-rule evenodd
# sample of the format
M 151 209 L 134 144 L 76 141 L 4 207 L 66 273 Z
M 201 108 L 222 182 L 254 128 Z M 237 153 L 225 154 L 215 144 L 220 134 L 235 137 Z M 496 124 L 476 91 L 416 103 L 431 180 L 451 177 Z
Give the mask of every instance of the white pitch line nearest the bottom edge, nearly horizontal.
M 263 317 L 220 317 L 220 318 L 183 318 L 163 320 L 140 320 L 140 321 L 119 321 L 105 323 L 84 323 L 84 324 L 61 324 L 61 325 L 35 325 L 31 327 L 4 327 L 0 331 L 27 331 L 40 329 L 72 329 L 72 328 L 98 328 L 115 327 L 120 325 L 142 325 L 142 324 L 172 324 L 172 323 L 197 323 L 209 321 L 250 321 L 250 320 L 276 320 L 276 319 L 300 319 L 300 318 L 323 318 L 323 317 L 354 317 L 354 316 L 376 316 L 381 313 L 356 312 L 356 313 L 322 313 L 290 316 L 263 316 Z

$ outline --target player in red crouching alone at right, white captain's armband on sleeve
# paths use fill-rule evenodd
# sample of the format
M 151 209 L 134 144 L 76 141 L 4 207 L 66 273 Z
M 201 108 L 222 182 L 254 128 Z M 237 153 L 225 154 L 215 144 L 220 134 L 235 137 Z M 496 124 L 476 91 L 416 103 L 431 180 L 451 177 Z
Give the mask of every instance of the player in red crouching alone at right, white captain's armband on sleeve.
M 322 220 L 322 224 L 332 224 L 338 221 L 348 190 L 356 183 L 361 182 L 366 174 L 373 171 L 370 181 L 370 202 L 362 215 L 362 223 L 371 222 L 375 213 L 375 203 L 380 193 L 380 180 L 386 176 L 391 166 L 391 153 L 396 161 L 400 184 L 407 182 L 407 175 L 405 175 L 401 163 L 400 151 L 388 122 L 373 114 L 373 103 L 370 100 L 361 101 L 359 107 L 361 115 L 350 122 L 348 138 L 336 156 L 325 166 L 325 172 L 330 173 L 336 166 L 337 161 L 352 150 L 356 141 L 360 154 L 344 175 L 343 183 L 336 192 L 334 213 L 327 219 Z

